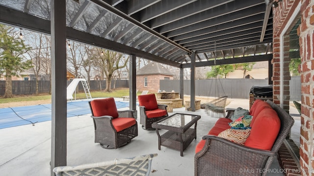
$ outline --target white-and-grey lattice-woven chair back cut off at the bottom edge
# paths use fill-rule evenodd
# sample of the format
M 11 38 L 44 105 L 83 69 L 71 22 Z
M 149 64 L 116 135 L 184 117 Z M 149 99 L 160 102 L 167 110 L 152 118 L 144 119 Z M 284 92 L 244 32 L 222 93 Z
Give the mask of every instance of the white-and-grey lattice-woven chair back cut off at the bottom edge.
M 53 172 L 56 176 L 149 176 L 154 156 L 157 156 L 157 154 L 79 166 L 59 166 L 55 167 Z

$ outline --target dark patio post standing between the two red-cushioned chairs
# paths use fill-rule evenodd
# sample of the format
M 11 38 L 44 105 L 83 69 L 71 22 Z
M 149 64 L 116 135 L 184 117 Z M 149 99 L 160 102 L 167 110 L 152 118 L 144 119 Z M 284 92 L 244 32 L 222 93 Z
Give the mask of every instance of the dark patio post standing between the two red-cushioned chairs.
M 130 55 L 130 73 L 129 73 L 129 89 L 130 89 L 130 109 L 136 111 L 136 56 Z M 135 116 L 136 115 L 136 116 Z M 134 114 L 137 118 L 137 113 Z

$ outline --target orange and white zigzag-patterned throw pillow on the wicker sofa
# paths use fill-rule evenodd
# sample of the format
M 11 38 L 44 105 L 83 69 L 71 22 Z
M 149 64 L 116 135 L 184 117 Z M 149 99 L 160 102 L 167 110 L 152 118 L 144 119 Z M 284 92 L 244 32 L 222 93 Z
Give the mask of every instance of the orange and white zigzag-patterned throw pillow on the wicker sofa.
M 226 129 L 218 134 L 218 137 L 227 139 L 231 142 L 244 145 L 246 138 L 250 135 L 251 128 L 248 129 Z

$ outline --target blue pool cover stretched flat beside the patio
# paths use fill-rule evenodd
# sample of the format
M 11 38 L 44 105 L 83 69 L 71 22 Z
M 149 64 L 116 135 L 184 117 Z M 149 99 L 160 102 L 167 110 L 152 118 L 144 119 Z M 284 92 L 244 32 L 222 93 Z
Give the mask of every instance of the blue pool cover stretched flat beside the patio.
M 129 107 L 129 102 L 115 101 L 117 109 Z M 67 117 L 90 114 L 88 101 L 68 101 Z M 0 108 L 0 129 L 51 121 L 51 104 Z

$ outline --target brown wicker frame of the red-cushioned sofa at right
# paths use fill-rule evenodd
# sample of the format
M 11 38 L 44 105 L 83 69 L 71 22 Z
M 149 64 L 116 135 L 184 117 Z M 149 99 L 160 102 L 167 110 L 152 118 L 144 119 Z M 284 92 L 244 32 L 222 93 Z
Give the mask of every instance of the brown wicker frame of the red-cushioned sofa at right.
M 254 149 L 217 136 L 204 136 L 206 144 L 194 157 L 195 176 L 265 176 L 267 174 L 261 170 L 270 168 L 294 123 L 293 118 L 285 110 L 272 101 L 267 100 L 267 103 L 277 112 L 281 122 L 272 149 L 270 151 Z

